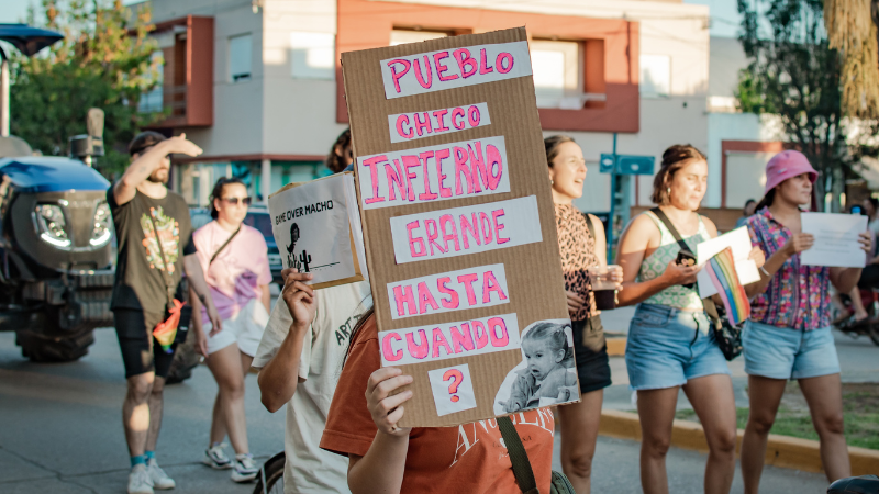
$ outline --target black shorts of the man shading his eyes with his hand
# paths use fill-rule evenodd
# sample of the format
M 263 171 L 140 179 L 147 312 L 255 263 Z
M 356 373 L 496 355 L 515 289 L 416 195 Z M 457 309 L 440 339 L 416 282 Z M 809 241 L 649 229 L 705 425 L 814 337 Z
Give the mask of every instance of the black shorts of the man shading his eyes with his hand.
M 125 363 L 125 379 L 146 372 L 167 378 L 177 344 L 171 345 L 168 353 L 153 337 L 153 329 L 165 321 L 165 313 L 114 308 L 113 321 Z

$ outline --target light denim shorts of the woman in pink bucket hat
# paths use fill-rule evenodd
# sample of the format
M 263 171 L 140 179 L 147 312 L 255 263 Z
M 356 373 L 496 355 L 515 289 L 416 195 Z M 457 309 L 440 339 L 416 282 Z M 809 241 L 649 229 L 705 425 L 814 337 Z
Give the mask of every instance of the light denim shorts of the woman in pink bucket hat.
M 742 346 L 748 375 L 803 379 L 839 373 L 830 327 L 804 332 L 748 321 Z

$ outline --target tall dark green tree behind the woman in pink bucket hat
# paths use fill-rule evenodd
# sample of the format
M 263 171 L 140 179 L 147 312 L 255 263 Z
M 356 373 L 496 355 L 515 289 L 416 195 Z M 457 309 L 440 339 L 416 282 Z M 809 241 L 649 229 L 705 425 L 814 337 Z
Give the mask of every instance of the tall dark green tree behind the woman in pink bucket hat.
M 821 173 L 819 198 L 838 198 L 876 126 L 843 113 L 842 59 L 828 46 L 823 1 L 738 0 L 738 40 L 750 59 L 739 75 L 739 108 L 777 114 L 787 141 Z

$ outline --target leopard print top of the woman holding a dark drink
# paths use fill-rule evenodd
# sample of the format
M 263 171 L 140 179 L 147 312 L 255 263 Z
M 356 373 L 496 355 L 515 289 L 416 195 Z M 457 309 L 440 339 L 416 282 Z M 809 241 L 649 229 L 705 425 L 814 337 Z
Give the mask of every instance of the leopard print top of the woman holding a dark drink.
M 587 303 L 571 321 L 583 321 L 598 314 L 592 295 L 592 283 L 587 269 L 599 263 L 596 255 L 596 238 L 589 233 L 586 216 L 574 204 L 556 204 L 556 229 L 558 231 L 558 251 L 561 255 L 561 271 L 565 274 L 565 290 L 580 294 Z M 594 222 L 592 223 L 594 227 Z

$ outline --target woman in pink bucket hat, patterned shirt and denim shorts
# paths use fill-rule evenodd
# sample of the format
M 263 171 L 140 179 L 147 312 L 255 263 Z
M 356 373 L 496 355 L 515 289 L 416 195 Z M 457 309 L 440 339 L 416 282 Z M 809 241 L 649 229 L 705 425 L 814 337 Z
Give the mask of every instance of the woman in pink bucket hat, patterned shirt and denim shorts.
M 797 379 L 821 438 L 827 480 L 849 476 L 843 436 L 839 361 L 831 334 L 830 285 L 842 293 L 858 282 L 860 268 L 803 266 L 800 252 L 814 243 L 802 232 L 800 206 L 812 200 L 817 172 L 795 150 L 779 153 L 766 165 L 766 195 L 748 220 L 752 244 L 769 258 L 760 281 L 746 288 L 752 313 L 743 334 L 750 409 L 742 441 L 745 492 L 759 491 L 766 441 L 789 379 Z M 859 238 L 870 252 L 871 235 Z

